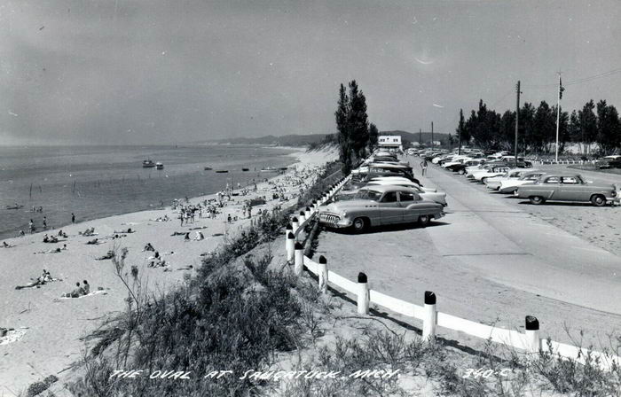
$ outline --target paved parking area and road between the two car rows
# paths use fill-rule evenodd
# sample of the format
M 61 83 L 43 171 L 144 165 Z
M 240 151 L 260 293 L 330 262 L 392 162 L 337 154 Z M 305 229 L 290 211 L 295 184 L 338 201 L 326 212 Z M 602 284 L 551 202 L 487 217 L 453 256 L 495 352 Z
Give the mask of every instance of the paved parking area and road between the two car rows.
M 420 158 L 404 160 L 420 177 Z M 350 279 L 365 271 L 373 288 L 408 301 L 434 291 L 439 310 L 480 323 L 520 329 L 536 315 L 560 341 L 572 342 L 565 324 L 595 346 L 621 324 L 621 260 L 601 247 L 618 240 L 610 226 L 621 207 L 532 206 L 435 166 L 421 182 L 447 193 L 444 218 L 427 228 L 327 230 L 318 252 L 329 268 Z

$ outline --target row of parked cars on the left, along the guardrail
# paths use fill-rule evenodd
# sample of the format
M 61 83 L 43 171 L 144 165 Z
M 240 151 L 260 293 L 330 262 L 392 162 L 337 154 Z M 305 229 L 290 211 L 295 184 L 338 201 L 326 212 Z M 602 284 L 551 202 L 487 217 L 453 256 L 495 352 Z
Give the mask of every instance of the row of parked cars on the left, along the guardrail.
M 332 202 L 319 207 L 319 223 L 355 232 L 397 223 L 426 226 L 444 216 L 446 205 L 446 193 L 424 187 L 409 163 L 393 152 L 375 152 Z

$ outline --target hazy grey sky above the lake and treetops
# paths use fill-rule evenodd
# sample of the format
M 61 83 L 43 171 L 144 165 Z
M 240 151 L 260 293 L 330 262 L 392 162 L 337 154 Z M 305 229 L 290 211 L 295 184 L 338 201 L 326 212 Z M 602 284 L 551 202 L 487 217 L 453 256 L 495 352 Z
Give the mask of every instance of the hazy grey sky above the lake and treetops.
M 0 144 L 332 133 L 350 80 L 380 130 L 454 132 L 518 80 L 555 104 L 558 71 L 564 109 L 621 107 L 619 20 L 617 0 L 0 0 Z

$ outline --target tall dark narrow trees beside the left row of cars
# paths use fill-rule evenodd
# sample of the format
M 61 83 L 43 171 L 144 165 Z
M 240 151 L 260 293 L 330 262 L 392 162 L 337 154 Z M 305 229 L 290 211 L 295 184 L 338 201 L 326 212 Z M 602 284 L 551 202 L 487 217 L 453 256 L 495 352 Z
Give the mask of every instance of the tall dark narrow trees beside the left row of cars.
M 339 158 L 342 170 L 349 174 L 351 167 L 366 158 L 367 149 L 377 146 L 378 129 L 369 124 L 366 114 L 366 97 L 352 80 L 349 94 L 343 84 L 339 89 L 339 101 L 334 116 L 338 131 Z

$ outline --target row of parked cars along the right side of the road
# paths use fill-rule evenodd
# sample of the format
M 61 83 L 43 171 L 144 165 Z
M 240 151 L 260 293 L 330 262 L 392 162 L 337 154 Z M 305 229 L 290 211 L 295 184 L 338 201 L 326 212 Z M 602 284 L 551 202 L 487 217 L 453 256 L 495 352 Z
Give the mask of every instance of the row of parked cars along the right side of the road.
M 532 169 L 525 161 L 520 164 L 519 158 L 518 167 L 515 167 L 513 159 L 513 163 L 502 156 L 499 160 L 469 159 L 452 153 L 444 155 L 436 164 L 453 172 L 457 169 L 471 181 L 484 183 L 491 191 L 513 194 L 536 205 L 546 201 L 590 202 L 593 206 L 619 203 L 619 189 L 614 184 L 593 183 L 574 173 Z M 456 167 L 456 163 L 465 167 Z

